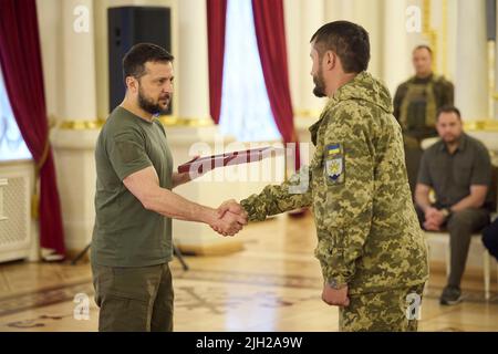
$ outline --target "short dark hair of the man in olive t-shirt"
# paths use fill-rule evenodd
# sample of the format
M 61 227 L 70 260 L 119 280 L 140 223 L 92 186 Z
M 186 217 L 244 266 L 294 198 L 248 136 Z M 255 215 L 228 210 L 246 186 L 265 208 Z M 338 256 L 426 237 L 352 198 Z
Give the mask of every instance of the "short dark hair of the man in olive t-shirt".
M 147 62 L 173 62 L 174 56 L 164 48 L 152 43 L 138 43 L 132 46 L 123 59 L 123 80 L 127 76 L 141 79 L 145 75 Z

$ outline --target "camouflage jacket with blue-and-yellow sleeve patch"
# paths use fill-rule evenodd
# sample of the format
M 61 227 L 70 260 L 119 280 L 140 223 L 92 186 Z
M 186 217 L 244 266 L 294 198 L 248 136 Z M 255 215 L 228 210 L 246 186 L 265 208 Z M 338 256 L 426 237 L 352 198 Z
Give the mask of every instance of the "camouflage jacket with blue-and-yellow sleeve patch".
M 392 111 L 387 88 L 360 73 L 310 127 L 317 150 L 309 168 L 241 201 L 251 221 L 312 206 L 323 278 L 347 283 L 350 294 L 407 288 L 428 275 Z

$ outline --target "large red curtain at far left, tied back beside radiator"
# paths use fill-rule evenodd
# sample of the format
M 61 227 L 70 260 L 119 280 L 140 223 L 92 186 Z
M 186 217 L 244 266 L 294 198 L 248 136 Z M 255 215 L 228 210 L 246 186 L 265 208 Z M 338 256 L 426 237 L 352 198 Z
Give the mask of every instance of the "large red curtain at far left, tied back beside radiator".
M 0 0 L 0 64 L 12 112 L 39 170 L 41 247 L 64 254 L 35 0 Z

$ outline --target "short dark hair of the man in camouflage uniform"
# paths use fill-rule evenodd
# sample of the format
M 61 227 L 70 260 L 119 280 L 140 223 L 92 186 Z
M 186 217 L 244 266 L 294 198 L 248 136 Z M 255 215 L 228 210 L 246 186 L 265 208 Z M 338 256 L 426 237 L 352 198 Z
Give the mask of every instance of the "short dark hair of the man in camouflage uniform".
M 320 60 L 326 51 L 333 51 L 341 59 L 345 73 L 359 73 L 369 67 L 369 32 L 349 21 L 334 21 L 322 25 L 311 38 Z

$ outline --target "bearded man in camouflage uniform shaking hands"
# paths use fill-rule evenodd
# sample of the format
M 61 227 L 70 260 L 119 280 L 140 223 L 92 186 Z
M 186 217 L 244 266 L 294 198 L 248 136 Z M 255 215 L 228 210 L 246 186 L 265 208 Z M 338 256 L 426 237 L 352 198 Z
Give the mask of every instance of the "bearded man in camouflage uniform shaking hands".
M 313 35 L 311 56 L 314 94 L 329 96 L 310 127 L 313 159 L 240 205 L 250 221 L 312 206 L 322 299 L 341 306 L 342 331 L 416 330 L 427 250 L 390 93 L 365 72 L 369 34 L 331 22 Z

